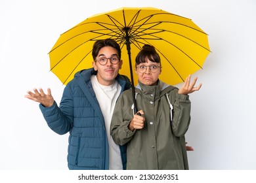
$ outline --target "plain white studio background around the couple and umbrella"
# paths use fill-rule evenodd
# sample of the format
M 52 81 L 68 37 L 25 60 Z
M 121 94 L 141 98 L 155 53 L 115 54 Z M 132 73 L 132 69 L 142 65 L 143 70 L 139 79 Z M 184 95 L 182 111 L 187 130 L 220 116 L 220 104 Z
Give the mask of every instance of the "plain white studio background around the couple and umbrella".
M 256 169 L 256 1 L 254 0 L 0 0 L 0 169 L 65 170 L 68 134 L 47 126 L 27 90 L 64 86 L 49 71 L 59 35 L 85 18 L 120 7 L 155 7 L 191 18 L 209 34 L 211 54 L 195 73 L 186 134 L 190 169 Z

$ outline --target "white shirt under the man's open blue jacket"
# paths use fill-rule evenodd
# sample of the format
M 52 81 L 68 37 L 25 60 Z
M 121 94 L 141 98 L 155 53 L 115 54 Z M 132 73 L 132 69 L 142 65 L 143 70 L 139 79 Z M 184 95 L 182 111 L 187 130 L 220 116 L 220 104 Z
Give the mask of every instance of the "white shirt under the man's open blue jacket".
M 98 79 L 95 75 L 91 76 L 91 83 L 93 85 L 93 90 L 95 91 L 98 103 L 100 105 L 100 110 L 104 116 L 106 133 L 108 137 L 109 144 L 109 169 L 110 170 L 122 170 L 123 165 L 121 162 L 121 152 L 119 145 L 117 145 L 111 135 L 110 135 L 110 123 L 112 119 L 112 114 L 114 107 L 116 105 L 117 97 L 121 92 L 121 86 L 115 80 L 110 86 L 104 86 L 98 83 Z

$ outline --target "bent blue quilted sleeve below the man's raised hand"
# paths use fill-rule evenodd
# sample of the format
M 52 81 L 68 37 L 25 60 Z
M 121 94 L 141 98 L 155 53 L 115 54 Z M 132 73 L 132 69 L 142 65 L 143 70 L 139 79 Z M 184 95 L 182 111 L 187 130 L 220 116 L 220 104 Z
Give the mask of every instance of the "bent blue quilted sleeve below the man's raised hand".
M 62 99 L 60 102 L 60 107 L 54 101 L 54 104 L 51 107 L 43 107 L 39 105 L 43 117 L 45 118 L 47 125 L 59 135 L 68 133 L 73 127 L 73 116 L 74 116 L 74 107 L 73 99 L 69 88 L 66 86 Z

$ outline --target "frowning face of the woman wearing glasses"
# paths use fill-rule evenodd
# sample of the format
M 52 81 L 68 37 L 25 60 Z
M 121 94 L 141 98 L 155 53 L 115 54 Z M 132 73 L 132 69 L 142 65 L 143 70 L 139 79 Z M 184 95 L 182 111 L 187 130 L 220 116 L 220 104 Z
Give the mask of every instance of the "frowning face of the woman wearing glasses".
M 143 69 L 145 67 L 146 71 Z M 150 68 L 152 68 L 152 71 L 150 70 Z M 135 73 L 138 75 L 138 79 L 142 84 L 156 85 L 158 77 L 161 74 L 160 63 L 150 61 L 148 58 L 146 58 L 146 63 L 140 63 L 139 65 L 137 65 Z

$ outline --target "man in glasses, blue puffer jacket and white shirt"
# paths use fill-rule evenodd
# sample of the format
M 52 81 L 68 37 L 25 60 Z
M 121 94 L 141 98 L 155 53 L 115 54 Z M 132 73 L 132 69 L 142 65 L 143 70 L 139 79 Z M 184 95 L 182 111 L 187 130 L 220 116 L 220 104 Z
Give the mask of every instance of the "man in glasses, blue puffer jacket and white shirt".
M 56 104 L 50 88 L 28 91 L 26 98 L 40 103 L 49 127 L 68 140 L 69 169 L 125 169 L 126 148 L 114 143 L 110 122 L 117 97 L 131 87 L 127 76 L 119 75 L 121 49 L 112 39 L 93 45 L 93 68 L 79 71 Z

